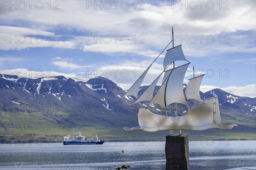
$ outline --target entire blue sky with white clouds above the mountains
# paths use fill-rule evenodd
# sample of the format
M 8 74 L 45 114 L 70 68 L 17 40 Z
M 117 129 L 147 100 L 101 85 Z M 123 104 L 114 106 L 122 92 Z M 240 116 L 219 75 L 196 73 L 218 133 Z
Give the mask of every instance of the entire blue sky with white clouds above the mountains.
M 96 75 L 128 89 L 172 40 L 173 26 L 189 69 L 206 73 L 201 91 L 256 97 L 255 6 L 254 0 L 3 0 L 1 73 Z M 164 54 L 145 84 L 162 69 Z

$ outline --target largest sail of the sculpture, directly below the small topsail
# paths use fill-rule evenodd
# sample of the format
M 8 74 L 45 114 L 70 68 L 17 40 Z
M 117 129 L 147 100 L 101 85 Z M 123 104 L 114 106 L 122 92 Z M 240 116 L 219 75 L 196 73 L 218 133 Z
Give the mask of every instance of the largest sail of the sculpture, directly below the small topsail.
M 184 105 L 187 105 L 183 94 L 183 79 L 188 66 L 189 63 L 172 69 L 171 73 L 148 105 L 159 104 L 164 108 L 172 103 L 183 103 Z

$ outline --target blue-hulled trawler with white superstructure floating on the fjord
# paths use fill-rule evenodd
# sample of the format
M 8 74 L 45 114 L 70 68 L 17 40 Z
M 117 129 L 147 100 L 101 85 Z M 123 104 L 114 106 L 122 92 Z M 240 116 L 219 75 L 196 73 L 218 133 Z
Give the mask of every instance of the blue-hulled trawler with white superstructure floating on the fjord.
M 64 145 L 68 144 L 103 144 L 105 141 L 100 141 L 98 135 L 96 134 L 96 140 L 90 138 L 87 139 L 85 136 L 81 136 L 81 132 L 78 132 L 78 136 L 64 136 Z

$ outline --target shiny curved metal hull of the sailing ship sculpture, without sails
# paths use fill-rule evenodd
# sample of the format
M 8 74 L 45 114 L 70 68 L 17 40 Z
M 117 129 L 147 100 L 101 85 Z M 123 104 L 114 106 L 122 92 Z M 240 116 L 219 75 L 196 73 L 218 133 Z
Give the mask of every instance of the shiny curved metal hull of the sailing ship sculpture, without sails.
M 188 110 L 184 116 L 163 116 L 154 114 L 146 108 L 140 108 L 138 114 L 138 127 L 123 129 L 127 132 L 148 131 L 156 132 L 160 130 L 205 130 L 209 128 L 233 129 L 237 125 L 221 125 L 221 117 L 218 106 L 218 97 L 206 99 L 206 102 L 193 109 Z

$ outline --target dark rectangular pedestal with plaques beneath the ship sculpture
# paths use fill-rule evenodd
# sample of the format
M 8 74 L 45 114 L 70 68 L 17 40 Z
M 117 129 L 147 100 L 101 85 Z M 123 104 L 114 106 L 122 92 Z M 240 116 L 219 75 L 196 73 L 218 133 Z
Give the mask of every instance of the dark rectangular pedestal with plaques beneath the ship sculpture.
M 166 136 L 166 170 L 189 170 L 189 135 Z

